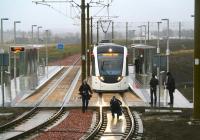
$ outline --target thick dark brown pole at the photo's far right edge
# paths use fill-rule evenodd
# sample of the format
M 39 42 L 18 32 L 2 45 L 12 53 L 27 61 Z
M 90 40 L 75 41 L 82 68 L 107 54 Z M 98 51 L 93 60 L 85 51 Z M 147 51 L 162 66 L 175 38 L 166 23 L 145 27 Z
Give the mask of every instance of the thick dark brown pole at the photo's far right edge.
M 195 25 L 194 25 L 194 110 L 193 118 L 200 119 L 200 1 L 195 0 Z

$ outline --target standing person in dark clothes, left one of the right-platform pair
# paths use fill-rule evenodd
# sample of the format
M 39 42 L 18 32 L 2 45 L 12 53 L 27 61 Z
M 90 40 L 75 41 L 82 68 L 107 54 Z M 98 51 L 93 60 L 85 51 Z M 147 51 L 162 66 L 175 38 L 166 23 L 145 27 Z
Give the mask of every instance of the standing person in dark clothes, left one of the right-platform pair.
M 152 78 L 150 80 L 151 105 L 153 104 L 153 96 L 154 96 L 154 104 L 156 104 L 157 102 L 157 95 L 156 95 L 157 85 L 158 85 L 158 79 L 155 78 L 155 74 L 152 74 Z

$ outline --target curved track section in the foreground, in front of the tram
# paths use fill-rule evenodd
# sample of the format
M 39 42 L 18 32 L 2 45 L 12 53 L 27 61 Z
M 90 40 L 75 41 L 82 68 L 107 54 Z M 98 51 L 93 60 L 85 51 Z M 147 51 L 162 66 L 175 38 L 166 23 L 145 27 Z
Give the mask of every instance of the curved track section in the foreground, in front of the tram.
M 115 94 L 113 94 L 115 95 Z M 109 127 L 109 129 L 112 129 L 109 124 L 111 124 L 110 121 L 114 121 L 114 119 L 109 118 L 109 108 L 103 107 L 102 102 L 100 102 L 100 107 L 98 109 L 97 113 L 97 122 L 94 126 L 94 128 L 91 130 L 90 134 L 84 137 L 86 140 L 94 140 L 94 139 L 109 139 L 109 138 L 117 138 L 122 140 L 139 140 L 142 139 L 143 134 L 143 125 L 142 121 L 140 119 L 140 116 L 137 112 L 132 112 L 128 105 L 126 104 L 126 101 L 123 99 L 122 95 L 120 95 L 121 101 L 123 102 L 122 110 L 123 110 L 123 116 L 124 116 L 124 122 L 126 123 L 125 131 L 112 131 L 106 132 L 106 129 Z M 100 94 L 100 98 L 102 98 L 102 95 Z M 119 122 L 121 123 L 121 122 Z M 122 126 L 119 126 L 122 127 Z M 117 128 L 122 129 L 122 128 Z

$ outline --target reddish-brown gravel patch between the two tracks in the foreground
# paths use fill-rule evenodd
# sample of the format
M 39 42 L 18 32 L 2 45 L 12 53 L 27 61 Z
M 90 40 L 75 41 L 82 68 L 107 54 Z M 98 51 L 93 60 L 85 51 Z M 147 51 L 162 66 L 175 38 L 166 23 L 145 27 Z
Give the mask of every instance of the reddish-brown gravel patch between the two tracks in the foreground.
M 78 140 L 89 129 L 92 115 L 91 110 L 82 113 L 81 109 L 73 109 L 59 125 L 42 133 L 35 140 Z

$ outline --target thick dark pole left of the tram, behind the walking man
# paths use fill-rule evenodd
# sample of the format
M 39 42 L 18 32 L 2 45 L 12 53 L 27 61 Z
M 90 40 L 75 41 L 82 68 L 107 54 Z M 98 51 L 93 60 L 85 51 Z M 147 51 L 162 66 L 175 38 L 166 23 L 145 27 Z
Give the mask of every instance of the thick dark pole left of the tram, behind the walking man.
M 81 59 L 82 59 L 82 82 L 86 79 L 86 56 L 85 56 L 85 0 L 81 0 Z

